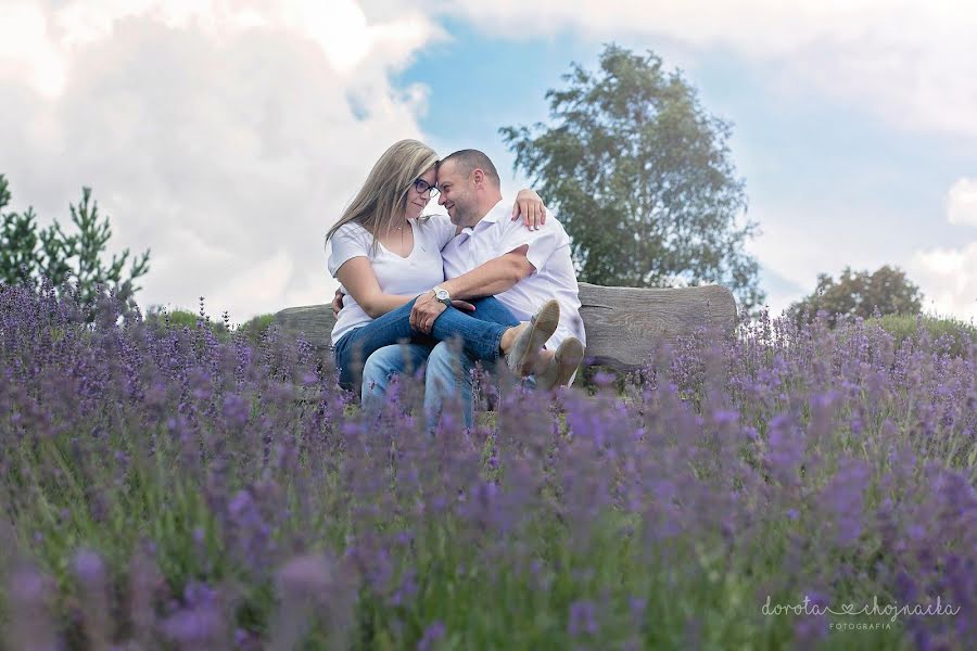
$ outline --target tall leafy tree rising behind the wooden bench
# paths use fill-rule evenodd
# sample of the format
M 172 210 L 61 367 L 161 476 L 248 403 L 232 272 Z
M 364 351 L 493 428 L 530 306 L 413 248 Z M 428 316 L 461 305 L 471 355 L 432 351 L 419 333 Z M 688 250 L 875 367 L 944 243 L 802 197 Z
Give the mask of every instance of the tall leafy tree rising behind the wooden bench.
M 548 90 L 554 126 L 504 127 L 516 169 L 532 179 L 572 239 L 581 280 L 664 286 L 721 283 L 760 305 L 759 265 L 744 243 L 744 181 L 731 127 L 705 112 L 680 71 L 652 52 L 609 44 L 596 73 L 572 64 Z M 743 218 L 743 222 L 740 222 Z

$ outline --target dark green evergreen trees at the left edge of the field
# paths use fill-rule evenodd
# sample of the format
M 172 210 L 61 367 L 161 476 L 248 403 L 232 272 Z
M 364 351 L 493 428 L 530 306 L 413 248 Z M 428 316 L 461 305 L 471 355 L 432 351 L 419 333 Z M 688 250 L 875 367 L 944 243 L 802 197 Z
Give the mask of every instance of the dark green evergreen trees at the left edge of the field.
M 112 238 L 109 217 L 100 219 L 98 202 L 91 201 L 91 189 L 83 188 L 81 202 L 69 205 L 77 232 L 66 234 L 58 220 L 39 228 L 33 208 L 24 213 L 4 213 L 10 204 L 9 183 L 0 175 L 0 282 L 28 283 L 37 286 L 41 277 L 54 286 L 74 284 L 84 305 L 93 305 L 99 286 L 115 291 L 128 301 L 140 290 L 135 280 L 149 271 L 149 250 L 132 258 L 128 276 L 123 269 L 129 250 L 112 255 L 105 266 L 103 257 Z

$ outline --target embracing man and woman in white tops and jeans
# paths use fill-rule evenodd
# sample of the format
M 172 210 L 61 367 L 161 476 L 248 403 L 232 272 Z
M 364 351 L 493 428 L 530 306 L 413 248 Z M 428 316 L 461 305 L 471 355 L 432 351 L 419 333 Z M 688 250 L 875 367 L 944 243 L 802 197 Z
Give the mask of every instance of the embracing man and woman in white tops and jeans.
M 421 216 L 434 195 L 448 218 Z M 572 383 L 585 334 L 570 239 L 535 192 L 508 206 L 477 150 L 439 161 L 402 140 L 373 165 L 326 235 L 342 285 L 332 330 L 340 384 L 359 390 L 364 409 L 382 405 L 391 378 L 422 366 L 431 426 L 458 399 L 471 427 L 477 361 L 503 357 L 541 390 Z M 459 335 L 460 350 L 449 345 Z

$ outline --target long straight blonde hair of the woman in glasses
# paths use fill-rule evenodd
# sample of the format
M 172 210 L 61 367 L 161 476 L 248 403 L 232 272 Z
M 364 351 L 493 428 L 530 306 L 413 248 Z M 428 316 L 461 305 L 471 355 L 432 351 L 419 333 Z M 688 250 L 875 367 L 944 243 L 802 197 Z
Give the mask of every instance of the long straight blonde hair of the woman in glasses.
M 420 175 L 437 163 L 437 154 L 419 140 L 401 140 L 383 152 L 373 164 L 363 188 L 343 210 L 329 232 L 326 242 L 341 227 L 351 221 L 373 235 L 373 251 L 380 233 L 390 232 L 394 219 L 407 209 L 407 193 Z

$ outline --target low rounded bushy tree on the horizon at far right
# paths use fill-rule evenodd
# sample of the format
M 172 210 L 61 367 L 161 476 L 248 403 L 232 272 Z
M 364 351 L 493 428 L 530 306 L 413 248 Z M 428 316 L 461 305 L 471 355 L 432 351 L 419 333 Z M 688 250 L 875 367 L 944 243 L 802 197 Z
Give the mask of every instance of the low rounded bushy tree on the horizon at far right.
M 787 308 L 796 321 L 813 319 L 819 310 L 828 312 L 834 324 L 836 315 L 867 319 L 879 315 L 918 315 L 923 309 L 923 294 L 898 267 L 885 265 L 874 273 L 852 271 L 846 267 L 838 282 L 827 273 L 817 275 L 814 293 Z

